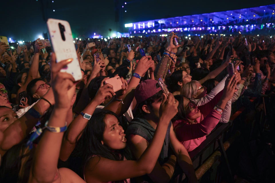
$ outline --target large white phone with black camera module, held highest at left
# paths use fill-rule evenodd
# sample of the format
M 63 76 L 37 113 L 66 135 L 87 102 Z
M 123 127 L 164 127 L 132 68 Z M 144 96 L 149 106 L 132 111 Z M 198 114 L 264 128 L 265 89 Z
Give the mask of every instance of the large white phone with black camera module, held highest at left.
M 70 24 L 64 20 L 48 19 L 48 31 L 51 38 L 53 50 L 56 55 L 56 62 L 72 58 L 62 72 L 71 74 L 76 81 L 82 78 L 78 57 L 73 43 Z

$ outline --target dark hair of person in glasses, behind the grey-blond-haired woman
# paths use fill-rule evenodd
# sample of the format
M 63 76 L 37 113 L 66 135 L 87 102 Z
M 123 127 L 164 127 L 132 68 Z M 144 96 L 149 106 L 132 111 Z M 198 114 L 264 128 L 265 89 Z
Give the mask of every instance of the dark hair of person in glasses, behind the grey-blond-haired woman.
M 182 71 L 184 70 L 181 69 L 181 70 L 174 71 L 170 77 L 166 78 L 165 81 L 169 92 L 173 93 L 180 89 L 180 85 L 178 85 L 178 81 L 182 80 Z

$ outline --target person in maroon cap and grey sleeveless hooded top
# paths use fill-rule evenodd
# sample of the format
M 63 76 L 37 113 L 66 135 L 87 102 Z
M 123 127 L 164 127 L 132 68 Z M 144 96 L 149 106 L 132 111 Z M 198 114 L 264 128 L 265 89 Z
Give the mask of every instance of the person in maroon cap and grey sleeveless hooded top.
M 172 94 L 170 95 L 173 97 Z M 129 147 L 136 159 L 140 158 L 151 143 L 158 122 L 163 115 L 169 115 L 159 113 L 163 98 L 162 89 L 156 80 L 147 79 L 142 81 L 135 89 L 135 99 L 137 101 L 135 111 L 140 115 L 129 123 L 126 138 L 129 140 Z M 169 147 L 173 149 L 174 154 L 168 153 Z M 153 171 L 143 176 L 142 180 L 169 182 L 174 173 L 176 162 L 188 176 L 190 182 L 198 181 L 188 152 L 177 140 L 172 122 L 170 122 L 158 162 Z

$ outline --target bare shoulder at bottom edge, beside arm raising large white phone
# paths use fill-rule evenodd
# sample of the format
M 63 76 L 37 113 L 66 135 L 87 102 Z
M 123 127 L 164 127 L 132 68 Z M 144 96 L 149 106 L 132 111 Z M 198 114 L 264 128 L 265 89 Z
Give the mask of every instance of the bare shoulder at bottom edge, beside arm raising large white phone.
M 78 176 L 74 171 L 70 170 L 69 168 L 58 168 L 60 177 L 61 177 L 61 183 L 85 183 L 85 181 Z

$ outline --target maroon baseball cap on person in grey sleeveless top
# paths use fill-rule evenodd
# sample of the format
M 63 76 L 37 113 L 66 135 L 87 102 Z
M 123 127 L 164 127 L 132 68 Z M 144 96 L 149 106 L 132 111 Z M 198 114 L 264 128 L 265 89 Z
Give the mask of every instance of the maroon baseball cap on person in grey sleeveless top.
M 161 90 L 161 87 L 156 86 L 157 83 L 158 81 L 154 79 L 147 79 L 137 85 L 135 89 L 135 100 L 137 101 L 137 105 Z

